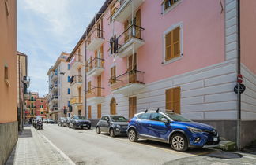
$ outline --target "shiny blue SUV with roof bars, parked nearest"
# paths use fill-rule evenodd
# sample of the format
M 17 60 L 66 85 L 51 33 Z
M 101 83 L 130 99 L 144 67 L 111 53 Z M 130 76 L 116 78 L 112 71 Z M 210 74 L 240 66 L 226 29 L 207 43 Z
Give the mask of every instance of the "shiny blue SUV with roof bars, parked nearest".
M 130 141 L 135 142 L 138 138 L 161 141 L 179 152 L 187 148 L 213 148 L 220 143 L 219 134 L 213 127 L 174 112 L 159 112 L 159 109 L 137 113 L 129 120 L 127 134 Z

